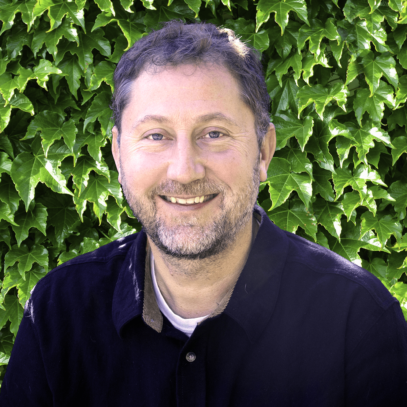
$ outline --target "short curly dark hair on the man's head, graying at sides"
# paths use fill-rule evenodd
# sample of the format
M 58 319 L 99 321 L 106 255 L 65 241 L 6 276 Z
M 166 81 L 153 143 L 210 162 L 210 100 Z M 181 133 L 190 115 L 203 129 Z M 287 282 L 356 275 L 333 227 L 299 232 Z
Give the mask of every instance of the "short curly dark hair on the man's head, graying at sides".
M 242 101 L 254 114 L 259 149 L 269 129 L 270 96 L 264 79 L 261 53 L 228 28 L 208 23 L 171 20 L 140 38 L 127 50 L 114 71 L 110 108 L 120 136 L 121 118 L 129 103 L 133 82 L 144 70 L 184 64 L 223 65 L 239 84 Z

